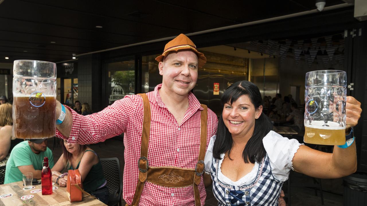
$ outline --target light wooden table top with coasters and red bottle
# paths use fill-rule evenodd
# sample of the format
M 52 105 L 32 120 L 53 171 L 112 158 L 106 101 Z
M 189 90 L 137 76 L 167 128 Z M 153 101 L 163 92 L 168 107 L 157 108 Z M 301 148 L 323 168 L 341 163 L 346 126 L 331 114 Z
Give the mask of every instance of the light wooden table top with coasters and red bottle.
M 57 184 L 53 186 L 59 186 Z M 41 185 L 34 185 L 34 189 L 41 189 Z M 51 195 L 42 195 L 39 193 L 30 193 L 32 190 L 23 190 L 23 181 L 2 184 L 0 185 L 0 195 L 12 194 L 8 198 L 0 198 L 0 206 L 21 206 L 21 205 L 32 205 L 32 206 L 68 206 L 68 205 L 78 205 L 78 206 L 100 206 L 105 205 L 98 199 L 92 196 L 83 194 L 83 200 L 81 202 L 69 202 L 68 196 L 66 195 L 66 187 L 58 187 L 54 190 Z M 24 195 L 34 195 L 32 199 L 21 200 Z

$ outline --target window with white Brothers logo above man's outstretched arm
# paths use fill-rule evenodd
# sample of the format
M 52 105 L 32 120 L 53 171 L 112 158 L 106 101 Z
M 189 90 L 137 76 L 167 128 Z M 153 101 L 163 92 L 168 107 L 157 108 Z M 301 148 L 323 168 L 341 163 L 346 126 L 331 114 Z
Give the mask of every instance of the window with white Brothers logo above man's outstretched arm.
M 108 63 L 109 105 L 135 94 L 135 60 Z

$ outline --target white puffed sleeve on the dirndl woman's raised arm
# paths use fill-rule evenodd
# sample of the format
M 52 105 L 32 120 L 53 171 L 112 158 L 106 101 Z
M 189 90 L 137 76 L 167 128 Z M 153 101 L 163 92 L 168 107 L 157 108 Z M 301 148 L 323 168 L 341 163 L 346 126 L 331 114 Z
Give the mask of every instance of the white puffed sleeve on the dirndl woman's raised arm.
M 262 140 L 268 154 L 273 176 L 280 181 L 288 179 L 289 171 L 294 170 L 292 159 L 301 144 L 296 139 L 282 137 L 270 131 Z

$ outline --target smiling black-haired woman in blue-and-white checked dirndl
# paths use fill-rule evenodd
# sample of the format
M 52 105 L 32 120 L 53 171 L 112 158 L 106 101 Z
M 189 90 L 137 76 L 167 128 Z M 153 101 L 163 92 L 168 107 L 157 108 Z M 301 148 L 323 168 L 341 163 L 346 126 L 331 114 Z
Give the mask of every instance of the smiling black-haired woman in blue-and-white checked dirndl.
M 217 136 L 211 138 L 204 161 L 218 205 L 278 205 L 290 170 L 316 178 L 339 178 L 356 171 L 354 142 L 326 153 L 274 132 L 270 119 L 262 113 L 262 98 L 255 84 L 232 84 L 221 102 L 224 108 Z M 352 126 L 361 111 L 360 102 L 348 96 L 347 139 L 353 138 Z

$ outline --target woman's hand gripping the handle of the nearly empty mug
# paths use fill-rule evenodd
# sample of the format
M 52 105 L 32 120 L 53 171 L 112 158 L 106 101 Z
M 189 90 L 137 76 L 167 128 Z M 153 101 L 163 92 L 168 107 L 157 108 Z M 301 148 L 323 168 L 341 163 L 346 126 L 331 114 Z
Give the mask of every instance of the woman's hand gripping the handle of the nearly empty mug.
M 358 102 L 354 97 L 347 96 L 345 104 L 346 128 L 356 126 L 358 119 L 361 117 L 361 113 L 361 103 Z

